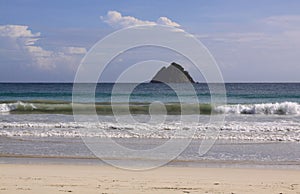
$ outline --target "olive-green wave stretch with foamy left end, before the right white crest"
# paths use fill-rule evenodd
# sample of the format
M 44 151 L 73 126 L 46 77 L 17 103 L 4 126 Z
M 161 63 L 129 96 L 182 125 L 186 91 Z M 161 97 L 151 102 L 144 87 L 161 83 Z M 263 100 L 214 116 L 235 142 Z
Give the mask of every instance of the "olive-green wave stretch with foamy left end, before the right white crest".
M 0 113 L 16 113 L 16 114 L 72 114 L 73 108 L 76 107 L 76 113 L 89 114 L 91 110 L 96 108 L 99 115 L 113 114 L 149 114 L 150 103 L 131 102 L 126 103 L 74 103 L 63 101 L 17 101 L 0 103 Z M 184 108 L 185 114 L 210 114 L 211 105 L 209 104 L 165 104 L 166 112 L 170 115 L 179 115 Z M 159 106 L 151 106 L 151 113 L 165 114 L 165 111 Z

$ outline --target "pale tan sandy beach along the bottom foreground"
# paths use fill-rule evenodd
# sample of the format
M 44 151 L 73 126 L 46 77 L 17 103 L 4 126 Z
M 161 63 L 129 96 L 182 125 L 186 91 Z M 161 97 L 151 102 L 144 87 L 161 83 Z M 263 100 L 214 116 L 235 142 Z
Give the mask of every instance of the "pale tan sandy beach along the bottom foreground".
M 0 193 L 300 193 L 300 171 L 1 164 Z

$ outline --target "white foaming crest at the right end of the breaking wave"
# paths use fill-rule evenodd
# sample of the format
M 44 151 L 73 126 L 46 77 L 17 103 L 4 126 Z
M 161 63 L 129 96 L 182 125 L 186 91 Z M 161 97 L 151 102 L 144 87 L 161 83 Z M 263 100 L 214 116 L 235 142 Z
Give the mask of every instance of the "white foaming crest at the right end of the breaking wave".
M 226 114 L 279 114 L 298 115 L 300 104 L 295 102 L 265 103 L 265 104 L 237 104 L 224 105 L 214 108 L 217 113 Z

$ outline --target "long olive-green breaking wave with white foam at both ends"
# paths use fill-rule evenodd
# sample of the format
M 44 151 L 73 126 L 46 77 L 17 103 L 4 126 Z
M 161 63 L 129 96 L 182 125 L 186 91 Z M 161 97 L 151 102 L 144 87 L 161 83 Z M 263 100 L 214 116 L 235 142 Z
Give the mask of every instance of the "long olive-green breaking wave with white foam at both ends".
M 300 104 L 296 102 L 261 103 L 261 104 L 228 104 L 214 106 L 210 104 L 164 104 L 167 114 L 263 114 L 263 115 L 300 115 Z M 0 103 L 0 113 L 16 114 L 72 114 L 72 107 L 76 107 L 77 113 L 89 114 L 96 108 L 99 115 L 128 114 L 128 104 L 116 103 L 77 103 L 64 101 L 17 101 Z M 133 102 L 129 104 L 131 114 L 149 114 L 150 103 Z M 92 109 L 91 109 L 92 108 Z M 151 107 L 151 113 L 165 114 L 160 107 Z

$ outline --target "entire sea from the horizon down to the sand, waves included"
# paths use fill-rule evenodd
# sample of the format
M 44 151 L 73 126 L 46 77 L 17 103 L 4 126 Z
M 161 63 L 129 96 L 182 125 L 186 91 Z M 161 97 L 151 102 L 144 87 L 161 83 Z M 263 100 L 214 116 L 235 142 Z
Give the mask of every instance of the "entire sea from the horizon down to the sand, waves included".
M 0 162 L 98 163 L 82 138 L 147 150 L 195 130 L 191 144 L 169 165 L 300 167 L 300 83 L 227 83 L 227 104 L 212 103 L 219 94 L 202 83 L 193 84 L 195 93 L 184 84 L 143 83 L 130 93 L 133 84 L 115 86 L 98 84 L 90 93 L 85 89 L 94 86 L 82 84 L 80 97 L 73 98 L 71 83 L 0 83 Z M 86 120 L 74 119 L 74 107 Z M 97 122 L 89 119 L 91 107 Z M 135 122 L 123 122 L 129 114 Z M 224 122 L 211 122 L 220 115 Z M 164 119 L 150 122 L 155 116 Z M 200 155 L 206 139 L 216 142 Z M 108 152 L 111 160 L 136 159 Z

